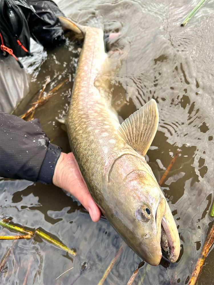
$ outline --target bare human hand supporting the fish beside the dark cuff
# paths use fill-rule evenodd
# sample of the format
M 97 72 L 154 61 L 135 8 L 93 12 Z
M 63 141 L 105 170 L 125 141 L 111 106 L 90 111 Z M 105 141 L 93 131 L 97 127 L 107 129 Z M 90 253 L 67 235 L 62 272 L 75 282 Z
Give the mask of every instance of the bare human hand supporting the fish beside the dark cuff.
M 54 170 L 53 184 L 75 196 L 89 211 L 92 221 L 100 219 L 100 209 L 88 191 L 72 152 L 61 152 Z

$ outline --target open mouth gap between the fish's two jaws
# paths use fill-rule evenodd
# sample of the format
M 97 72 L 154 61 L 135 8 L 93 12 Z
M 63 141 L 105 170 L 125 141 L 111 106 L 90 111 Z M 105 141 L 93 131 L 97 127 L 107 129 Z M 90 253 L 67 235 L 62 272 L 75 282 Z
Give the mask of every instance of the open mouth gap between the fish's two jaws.
M 167 258 L 171 262 L 175 259 L 174 253 L 173 253 L 173 242 L 172 238 L 169 232 L 169 229 L 167 227 L 167 224 L 164 220 L 164 217 L 162 218 L 161 221 L 161 250 L 163 257 Z

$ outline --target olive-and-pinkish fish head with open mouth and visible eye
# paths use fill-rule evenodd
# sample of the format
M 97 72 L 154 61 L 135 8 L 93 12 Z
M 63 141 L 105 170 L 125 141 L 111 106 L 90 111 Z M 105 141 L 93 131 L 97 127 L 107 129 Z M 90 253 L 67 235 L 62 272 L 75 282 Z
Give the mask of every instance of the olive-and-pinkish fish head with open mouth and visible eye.
M 134 156 L 124 155 L 110 170 L 108 185 L 112 199 L 108 197 L 108 201 L 112 213 L 108 210 L 107 219 L 146 262 L 158 265 L 162 250 L 175 262 L 180 242 L 169 205 L 150 166 L 146 161 L 136 163 L 136 160 Z

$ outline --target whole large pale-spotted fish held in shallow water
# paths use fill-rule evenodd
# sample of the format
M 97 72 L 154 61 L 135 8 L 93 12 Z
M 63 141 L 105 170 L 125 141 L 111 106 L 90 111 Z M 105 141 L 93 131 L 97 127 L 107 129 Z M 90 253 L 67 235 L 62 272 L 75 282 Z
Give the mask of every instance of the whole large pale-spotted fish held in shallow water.
M 163 251 L 170 262 L 176 262 L 180 252 L 177 226 L 145 160 L 158 129 L 157 103 L 151 99 L 120 124 L 108 80 L 100 76 L 110 65 L 103 30 L 61 16 L 59 20 L 84 35 L 65 124 L 88 190 L 110 224 L 143 260 L 156 266 Z

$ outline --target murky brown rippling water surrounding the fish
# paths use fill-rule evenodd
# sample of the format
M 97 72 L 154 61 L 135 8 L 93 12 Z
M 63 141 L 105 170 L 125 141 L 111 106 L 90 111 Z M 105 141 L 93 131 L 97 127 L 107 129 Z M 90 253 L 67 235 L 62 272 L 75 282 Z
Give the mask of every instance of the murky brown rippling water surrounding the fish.
M 148 157 L 157 178 L 181 150 L 163 183 L 180 235 L 179 260 L 175 264 L 161 260 L 156 267 L 144 264 L 134 284 L 185 284 L 213 223 L 209 211 L 214 181 L 214 3 L 206 1 L 186 27 L 180 24 L 197 1 L 56 3 L 78 23 L 99 24 L 106 32 L 121 32 L 112 45 L 127 56 L 112 82 L 112 102 L 125 119 L 149 99 L 156 99 L 160 121 Z M 36 101 L 37 91 L 48 76 L 51 82 L 46 93 L 62 83 L 34 117 L 39 118 L 51 142 L 64 152 L 69 151 L 69 144 L 56 119 L 66 113 L 69 105 L 77 48 L 76 42 L 68 41 L 64 47 L 42 52 L 39 64 L 24 60 L 31 73 L 31 95 L 16 110 L 20 115 L 29 108 L 29 101 Z M 55 186 L 10 180 L 1 180 L 0 184 L 1 216 L 13 217 L 14 223 L 29 228 L 39 227 L 78 253 L 77 257 L 69 257 L 39 237 L 16 241 L 0 283 L 22 284 L 30 264 L 27 284 L 97 284 L 122 245 L 109 223 L 104 219 L 93 223 L 74 198 Z M 1 232 L 11 234 L 7 229 Z M 0 243 L 1 255 L 12 243 Z M 126 246 L 104 284 L 126 284 L 140 262 Z M 212 250 L 199 284 L 213 283 Z

